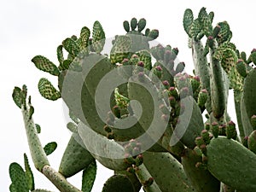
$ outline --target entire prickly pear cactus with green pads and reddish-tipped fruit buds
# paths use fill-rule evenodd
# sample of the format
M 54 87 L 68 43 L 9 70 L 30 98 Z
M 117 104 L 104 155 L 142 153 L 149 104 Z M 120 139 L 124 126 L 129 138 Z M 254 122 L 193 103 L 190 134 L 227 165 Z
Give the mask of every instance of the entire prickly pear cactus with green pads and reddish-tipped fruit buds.
M 63 192 L 90 191 L 96 162 L 114 171 L 103 192 L 141 188 L 148 192 L 256 191 L 256 50 L 248 57 L 240 52 L 230 42 L 228 22 L 212 26 L 213 17 L 205 8 L 197 18 L 191 9 L 184 12 L 193 75 L 184 73 L 185 64 L 177 61 L 177 48 L 150 46 L 159 36 L 158 30 L 144 31 L 146 20 L 135 18 L 124 21 L 127 33 L 113 39 L 108 55 L 103 53 L 105 32 L 96 21 L 91 38 L 90 29 L 84 26 L 79 38 L 66 38 L 58 46 L 58 67 L 42 55 L 32 58 L 38 69 L 58 78 L 58 89 L 43 78 L 38 90 L 48 100 L 62 98 L 66 102 L 71 119 L 67 128 L 73 132 L 55 171 L 47 155 L 56 143 L 42 147 L 41 129 L 33 122 L 34 108 L 31 97 L 26 96 L 26 85 L 15 87 L 13 99 L 23 113 L 38 171 Z M 113 90 L 106 94 L 105 105 L 110 110 L 103 110 L 104 119 L 99 115 L 102 106 L 96 103 L 97 89 L 102 78 L 113 71 L 122 81 L 105 79 Z M 227 111 L 229 90 L 234 91 L 237 126 Z M 138 105 L 132 101 L 142 108 L 139 119 Z M 125 119 L 134 123 L 119 129 Z M 160 136 L 156 136 L 158 132 Z M 137 139 L 142 135 L 143 140 Z M 18 163 L 9 166 L 9 190 L 48 191 L 35 189 L 26 154 L 24 160 L 25 170 Z M 83 172 L 81 189 L 67 182 L 67 177 L 78 172 Z

